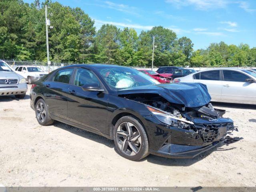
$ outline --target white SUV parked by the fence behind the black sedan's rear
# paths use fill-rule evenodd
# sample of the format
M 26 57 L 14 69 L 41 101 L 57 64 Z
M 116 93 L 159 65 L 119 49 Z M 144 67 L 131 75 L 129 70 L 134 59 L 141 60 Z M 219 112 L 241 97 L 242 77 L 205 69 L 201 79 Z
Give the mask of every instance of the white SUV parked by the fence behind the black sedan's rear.
M 26 78 L 28 84 L 32 84 L 48 74 L 37 66 L 18 66 L 15 68 L 15 72 Z

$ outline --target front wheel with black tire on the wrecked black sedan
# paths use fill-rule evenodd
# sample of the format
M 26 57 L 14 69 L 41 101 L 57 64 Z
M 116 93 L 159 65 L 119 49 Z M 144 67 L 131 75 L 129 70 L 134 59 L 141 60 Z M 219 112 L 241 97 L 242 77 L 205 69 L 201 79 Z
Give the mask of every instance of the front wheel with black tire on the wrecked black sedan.
M 134 136 L 134 139 L 135 139 L 135 135 L 138 134 L 137 132 L 139 132 L 139 134 L 140 134 L 140 141 L 139 140 L 136 141 L 139 144 L 135 143 L 135 142 L 133 143 L 133 144 L 136 144 L 139 146 L 139 147 L 137 146 L 137 148 L 136 148 L 136 149 L 139 148 L 138 151 L 136 151 L 137 153 L 135 153 L 134 150 L 132 150 L 132 148 L 130 147 L 131 142 L 133 142 L 132 141 L 133 138 L 130 137 L 129 135 L 123 136 L 122 134 L 119 134 L 121 126 L 122 125 L 126 126 L 125 125 L 126 123 L 129 123 L 130 125 L 132 125 L 132 126 L 128 125 L 129 127 L 132 127 L 132 132 L 135 130 L 135 132 L 132 133 Z M 117 132 L 119 132 L 119 133 L 117 133 Z M 122 132 L 123 132 L 123 130 L 122 130 Z M 124 132 L 126 132 L 126 131 L 124 131 Z M 123 139 L 122 139 L 122 137 L 123 137 Z M 149 152 L 148 152 L 148 150 L 149 150 L 148 137 L 147 137 L 146 131 L 144 129 L 144 126 L 142 125 L 140 120 L 138 120 L 137 118 L 135 118 L 133 116 L 124 116 L 116 122 L 116 125 L 114 126 L 114 131 L 113 131 L 113 138 L 114 138 L 114 143 L 116 146 L 116 151 L 118 152 L 118 154 L 120 154 L 124 158 L 133 160 L 133 161 L 138 161 L 142 158 L 145 158 L 149 154 Z M 128 143 L 127 144 L 128 147 L 126 147 L 127 150 L 125 150 L 126 152 L 124 152 L 121 149 L 121 146 L 123 146 L 123 144 L 124 144 L 124 140 L 125 140 L 125 142 Z M 129 142 L 130 142 L 130 144 L 129 144 Z M 127 154 L 127 152 L 129 153 L 130 151 L 132 151 L 131 154 L 130 155 Z

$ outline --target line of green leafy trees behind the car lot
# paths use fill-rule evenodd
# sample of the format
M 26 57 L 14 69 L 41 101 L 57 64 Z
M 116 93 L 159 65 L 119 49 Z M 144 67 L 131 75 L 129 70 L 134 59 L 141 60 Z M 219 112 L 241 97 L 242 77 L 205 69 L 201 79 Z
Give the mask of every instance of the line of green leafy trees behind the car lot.
M 51 13 L 50 60 L 59 63 L 107 63 L 150 66 L 155 36 L 154 66 L 256 66 L 256 48 L 248 44 L 212 43 L 194 50 L 187 37 L 162 26 L 142 30 L 120 29 L 104 24 L 97 31 L 81 8 L 46 0 L 32 4 L 23 0 L 0 1 L 0 58 L 46 61 L 44 6 Z

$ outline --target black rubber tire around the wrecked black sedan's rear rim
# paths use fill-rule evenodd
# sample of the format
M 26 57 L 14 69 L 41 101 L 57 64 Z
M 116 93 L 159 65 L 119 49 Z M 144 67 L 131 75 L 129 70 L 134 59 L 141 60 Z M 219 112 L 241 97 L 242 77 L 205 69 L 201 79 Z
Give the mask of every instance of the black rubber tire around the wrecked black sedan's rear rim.
M 38 116 L 38 108 L 37 106 L 41 104 L 44 106 L 44 119 L 42 118 L 42 116 Z M 38 123 L 40 125 L 43 125 L 43 126 L 47 126 L 47 125 L 51 125 L 54 123 L 54 120 L 51 119 L 50 115 L 49 115 L 49 112 L 48 112 L 48 106 L 46 105 L 46 103 L 44 102 L 43 99 L 39 99 L 37 102 L 36 102 L 36 105 L 35 105 L 35 111 L 36 111 L 36 120 L 38 121 Z

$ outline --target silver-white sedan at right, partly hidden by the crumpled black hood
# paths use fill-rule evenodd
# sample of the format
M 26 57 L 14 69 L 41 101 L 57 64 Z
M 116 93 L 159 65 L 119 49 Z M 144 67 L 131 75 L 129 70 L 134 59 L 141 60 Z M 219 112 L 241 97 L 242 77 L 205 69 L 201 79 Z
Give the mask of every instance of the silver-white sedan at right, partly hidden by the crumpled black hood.
M 246 69 L 214 68 L 175 78 L 173 82 L 205 84 L 215 102 L 256 104 L 256 73 Z

